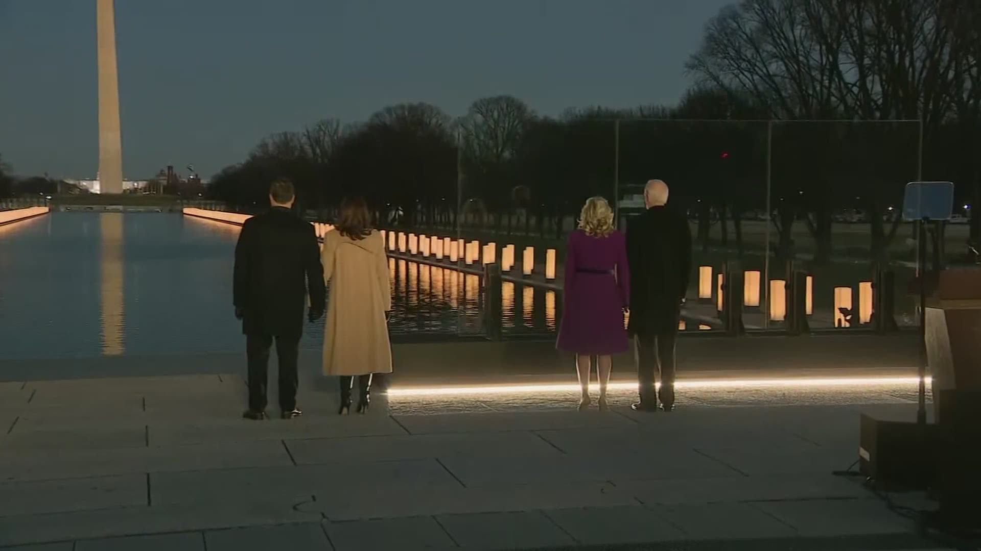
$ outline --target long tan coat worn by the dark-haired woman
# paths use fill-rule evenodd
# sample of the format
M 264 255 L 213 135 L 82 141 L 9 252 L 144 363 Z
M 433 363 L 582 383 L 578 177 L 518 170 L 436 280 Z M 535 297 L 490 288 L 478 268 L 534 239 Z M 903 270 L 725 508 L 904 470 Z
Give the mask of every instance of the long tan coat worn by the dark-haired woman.
M 385 313 L 391 310 L 382 234 L 354 240 L 328 231 L 321 252 L 330 286 L 324 334 L 324 375 L 391 373 Z

